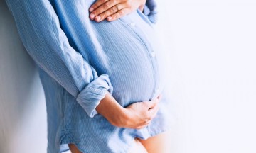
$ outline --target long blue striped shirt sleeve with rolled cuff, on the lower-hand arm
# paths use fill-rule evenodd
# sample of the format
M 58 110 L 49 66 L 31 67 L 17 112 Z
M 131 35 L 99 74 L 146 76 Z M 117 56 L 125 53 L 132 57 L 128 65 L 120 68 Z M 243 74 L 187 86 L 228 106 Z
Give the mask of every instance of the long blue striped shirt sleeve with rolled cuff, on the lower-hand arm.
M 48 0 L 6 0 L 24 47 L 33 60 L 73 95 L 92 118 L 112 85 L 70 47 L 58 16 Z

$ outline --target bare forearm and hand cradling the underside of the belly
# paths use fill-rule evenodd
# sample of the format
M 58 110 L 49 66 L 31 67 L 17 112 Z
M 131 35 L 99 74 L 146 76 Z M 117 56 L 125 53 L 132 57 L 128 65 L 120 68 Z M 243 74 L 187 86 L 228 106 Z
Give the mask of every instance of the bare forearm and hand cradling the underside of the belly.
M 144 128 L 159 111 L 161 95 L 151 101 L 132 103 L 123 108 L 114 97 L 107 92 L 100 101 L 96 111 L 103 115 L 112 125 L 122 128 Z

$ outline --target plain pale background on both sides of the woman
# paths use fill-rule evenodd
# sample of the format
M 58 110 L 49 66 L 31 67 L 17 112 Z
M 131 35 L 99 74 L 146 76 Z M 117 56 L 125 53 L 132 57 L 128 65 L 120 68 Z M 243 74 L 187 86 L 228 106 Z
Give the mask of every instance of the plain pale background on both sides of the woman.
M 43 153 L 43 89 L 0 1 L 0 152 Z M 256 152 L 255 27 L 253 1 L 159 1 L 175 110 L 171 153 Z

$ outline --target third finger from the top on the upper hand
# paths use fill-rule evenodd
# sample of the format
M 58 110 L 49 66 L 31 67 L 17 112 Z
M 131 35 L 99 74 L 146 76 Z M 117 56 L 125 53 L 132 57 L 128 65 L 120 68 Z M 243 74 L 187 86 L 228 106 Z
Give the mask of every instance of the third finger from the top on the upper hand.
M 102 20 L 105 20 L 108 16 L 111 16 L 114 13 L 117 13 L 119 10 L 122 10 L 125 7 L 124 4 L 117 4 L 115 6 L 112 6 L 112 8 L 108 9 L 107 11 L 97 15 L 95 17 L 95 21 L 99 22 Z

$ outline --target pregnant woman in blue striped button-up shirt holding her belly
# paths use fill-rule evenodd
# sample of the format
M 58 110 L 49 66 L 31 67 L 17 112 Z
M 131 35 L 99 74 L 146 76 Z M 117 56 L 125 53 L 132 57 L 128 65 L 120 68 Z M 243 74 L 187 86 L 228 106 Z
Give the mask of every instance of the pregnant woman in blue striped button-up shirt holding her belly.
M 166 152 L 169 99 L 149 1 L 104 20 L 90 15 L 95 0 L 6 0 L 38 65 L 49 153 Z

